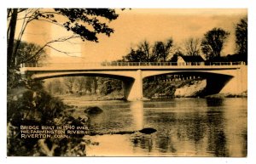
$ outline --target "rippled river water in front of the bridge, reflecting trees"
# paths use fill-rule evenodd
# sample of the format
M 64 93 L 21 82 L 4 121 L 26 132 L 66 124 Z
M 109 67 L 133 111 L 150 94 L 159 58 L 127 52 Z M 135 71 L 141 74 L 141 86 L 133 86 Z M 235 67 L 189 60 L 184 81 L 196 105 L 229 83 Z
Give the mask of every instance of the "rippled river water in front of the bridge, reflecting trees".
M 85 105 L 86 104 L 86 105 Z M 247 99 L 168 99 L 86 102 L 90 116 L 87 156 L 247 156 Z M 84 111 L 76 110 L 77 114 Z M 151 134 L 109 134 L 152 127 Z

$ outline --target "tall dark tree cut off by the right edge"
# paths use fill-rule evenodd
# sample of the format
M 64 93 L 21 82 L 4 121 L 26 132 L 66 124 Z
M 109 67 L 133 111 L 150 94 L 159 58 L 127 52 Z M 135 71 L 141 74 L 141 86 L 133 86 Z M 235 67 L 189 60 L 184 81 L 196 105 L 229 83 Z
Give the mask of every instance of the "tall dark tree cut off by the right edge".
M 247 60 L 247 17 L 236 25 L 236 48 L 237 53 Z

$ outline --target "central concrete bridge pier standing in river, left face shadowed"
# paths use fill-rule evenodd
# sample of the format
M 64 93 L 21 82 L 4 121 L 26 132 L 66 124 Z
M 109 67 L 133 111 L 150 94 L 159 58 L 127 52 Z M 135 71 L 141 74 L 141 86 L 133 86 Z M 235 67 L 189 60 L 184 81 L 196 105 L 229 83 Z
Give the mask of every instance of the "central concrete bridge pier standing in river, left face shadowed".
M 142 71 L 137 70 L 134 78 L 123 81 L 125 99 L 128 101 L 136 101 L 143 99 L 143 76 Z

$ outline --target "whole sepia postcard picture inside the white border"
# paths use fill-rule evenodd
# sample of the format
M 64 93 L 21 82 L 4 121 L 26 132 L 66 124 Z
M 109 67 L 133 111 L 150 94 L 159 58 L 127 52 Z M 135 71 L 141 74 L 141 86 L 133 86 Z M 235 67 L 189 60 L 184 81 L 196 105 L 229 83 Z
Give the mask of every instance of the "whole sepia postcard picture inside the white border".
M 247 36 L 247 8 L 7 8 L 7 156 L 246 158 Z

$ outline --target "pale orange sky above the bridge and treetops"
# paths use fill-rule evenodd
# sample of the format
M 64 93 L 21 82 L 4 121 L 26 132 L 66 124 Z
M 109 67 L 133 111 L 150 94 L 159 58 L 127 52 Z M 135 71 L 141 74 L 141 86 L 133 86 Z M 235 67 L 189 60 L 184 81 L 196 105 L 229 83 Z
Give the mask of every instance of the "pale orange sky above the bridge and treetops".
M 147 40 L 165 42 L 172 37 L 175 48 L 183 48 L 183 42 L 189 37 L 202 38 L 214 27 L 230 32 L 225 43 L 223 55 L 235 52 L 235 26 L 247 15 L 244 8 L 219 9 L 174 9 L 174 8 L 132 8 L 117 10 L 119 17 L 108 25 L 114 32 L 110 37 L 99 35 L 99 42 L 81 42 L 73 39 L 69 42 L 54 43 L 61 51 L 49 50 L 48 62 L 102 62 L 121 59 L 129 53 L 130 48 Z M 49 23 L 34 21 L 27 26 L 24 40 L 43 45 L 51 39 L 69 36 L 65 29 Z

